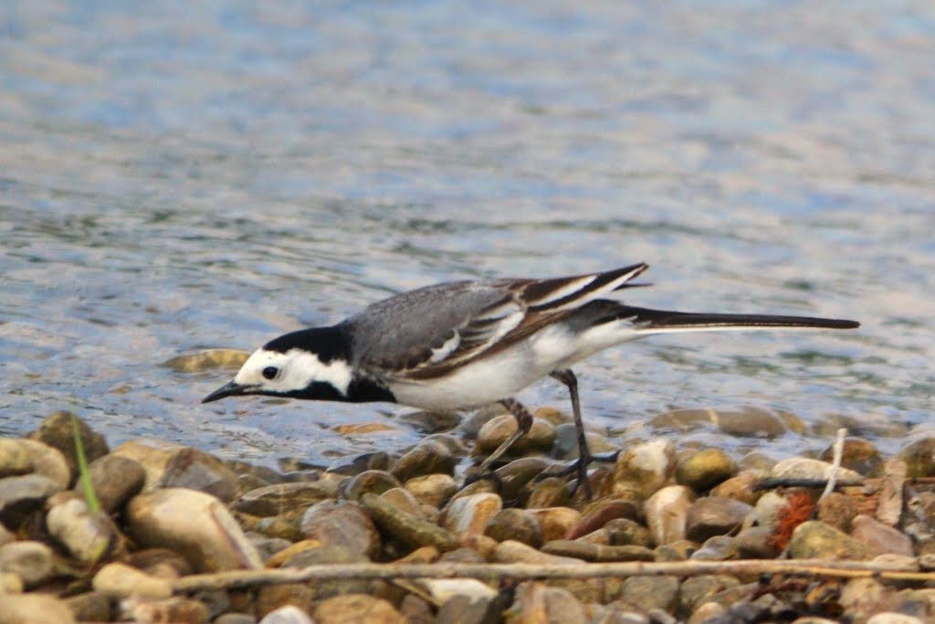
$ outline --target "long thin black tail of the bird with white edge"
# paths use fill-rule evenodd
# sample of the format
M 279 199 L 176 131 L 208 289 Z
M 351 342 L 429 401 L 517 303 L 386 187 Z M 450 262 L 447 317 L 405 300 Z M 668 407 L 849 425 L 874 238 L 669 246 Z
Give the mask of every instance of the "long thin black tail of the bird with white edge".
M 621 305 L 614 314 L 628 318 L 636 327 L 646 331 L 704 331 L 705 329 L 756 327 L 821 327 L 825 329 L 854 329 L 856 321 L 814 316 L 783 316 L 778 314 L 720 314 L 709 312 L 674 312 L 651 310 Z

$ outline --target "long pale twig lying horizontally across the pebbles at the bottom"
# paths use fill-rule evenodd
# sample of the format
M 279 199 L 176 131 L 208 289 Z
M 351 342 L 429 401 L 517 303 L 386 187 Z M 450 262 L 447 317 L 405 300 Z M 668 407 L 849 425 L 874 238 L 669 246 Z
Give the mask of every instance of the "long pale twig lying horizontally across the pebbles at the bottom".
M 612 576 L 695 576 L 698 574 L 799 574 L 839 578 L 879 577 L 904 581 L 935 581 L 935 573 L 894 563 L 828 561 L 825 559 L 745 559 L 736 561 L 665 561 L 581 564 L 530 563 L 350 563 L 278 570 L 237 570 L 183 576 L 173 583 L 177 593 L 204 589 L 247 588 L 256 585 L 342 579 L 476 578 L 505 579 L 608 578 Z

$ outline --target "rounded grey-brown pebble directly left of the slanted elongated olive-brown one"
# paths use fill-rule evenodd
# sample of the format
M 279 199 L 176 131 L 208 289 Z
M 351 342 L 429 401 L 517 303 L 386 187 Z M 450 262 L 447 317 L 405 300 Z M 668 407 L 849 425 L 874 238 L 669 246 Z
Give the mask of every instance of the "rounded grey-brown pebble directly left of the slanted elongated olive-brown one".
M 373 496 L 365 494 L 364 498 Z M 358 502 L 317 502 L 302 515 L 300 528 L 307 540 L 347 548 L 362 553 L 367 559 L 372 559 L 380 551 L 380 533 Z

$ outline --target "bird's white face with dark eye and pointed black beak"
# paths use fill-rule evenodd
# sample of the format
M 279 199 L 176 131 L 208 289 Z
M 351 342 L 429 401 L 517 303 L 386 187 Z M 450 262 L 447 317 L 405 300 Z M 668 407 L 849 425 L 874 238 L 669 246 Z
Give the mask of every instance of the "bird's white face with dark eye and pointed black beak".
M 271 395 L 302 399 L 335 399 L 346 396 L 351 385 L 351 366 L 342 359 L 327 364 L 301 349 L 285 353 L 257 349 L 234 377 L 207 400 L 236 395 Z

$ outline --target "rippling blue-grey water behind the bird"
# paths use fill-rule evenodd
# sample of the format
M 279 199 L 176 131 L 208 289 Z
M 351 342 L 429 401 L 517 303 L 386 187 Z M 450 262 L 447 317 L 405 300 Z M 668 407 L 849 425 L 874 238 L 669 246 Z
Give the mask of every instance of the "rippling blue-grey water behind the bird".
M 0 433 L 71 409 L 262 462 L 402 448 L 403 408 L 201 405 L 231 371 L 161 363 L 427 283 L 646 261 L 639 305 L 864 327 L 605 352 L 590 423 L 798 414 L 774 457 L 841 416 L 924 435 L 933 59 L 923 0 L 4 3 Z

